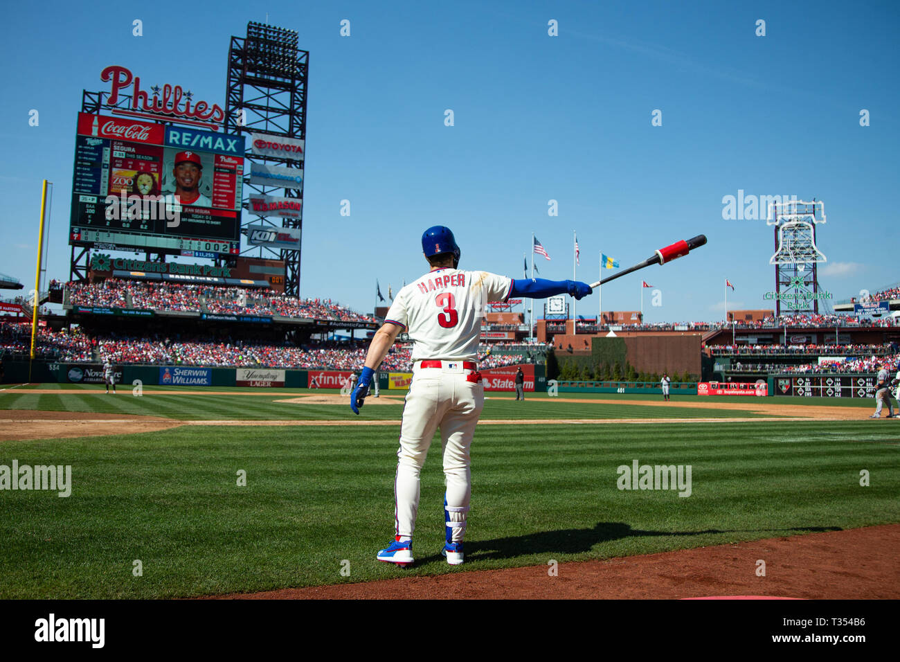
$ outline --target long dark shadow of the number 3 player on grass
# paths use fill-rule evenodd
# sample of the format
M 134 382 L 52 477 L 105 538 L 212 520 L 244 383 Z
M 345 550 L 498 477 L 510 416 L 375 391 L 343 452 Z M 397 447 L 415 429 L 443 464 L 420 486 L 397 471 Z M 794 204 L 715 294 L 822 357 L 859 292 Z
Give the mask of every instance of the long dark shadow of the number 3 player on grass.
M 643 536 L 698 536 L 705 533 L 740 533 L 753 530 L 707 529 L 705 531 L 642 531 L 632 529 L 621 521 L 599 521 L 593 529 L 561 529 L 541 531 L 525 536 L 510 536 L 494 540 L 473 540 L 465 542 L 466 561 L 482 561 L 495 558 L 516 558 L 530 554 L 579 554 L 590 551 L 594 545 L 608 540 L 639 538 Z M 770 530 L 771 531 L 771 530 Z M 840 527 L 795 527 L 776 529 L 780 535 L 791 535 L 800 531 L 821 532 L 841 531 Z M 424 560 L 424 559 L 423 559 Z

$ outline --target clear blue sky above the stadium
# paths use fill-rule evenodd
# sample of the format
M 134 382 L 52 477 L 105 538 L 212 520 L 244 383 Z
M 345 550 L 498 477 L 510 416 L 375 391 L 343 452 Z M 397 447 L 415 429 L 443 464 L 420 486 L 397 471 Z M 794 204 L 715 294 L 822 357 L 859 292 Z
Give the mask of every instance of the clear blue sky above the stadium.
M 739 190 L 824 201 L 819 281 L 836 299 L 900 281 L 896 3 L 210 6 L 4 9 L 0 271 L 31 288 L 47 178 L 48 273 L 67 279 L 76 113 L 82 89 L 107 88 L 103 67 L 224 105 L 229 37 L 267 12 L 311 53 L 304 296 L 371 311 L 376 278 L 387 295 L 427 269 L 420 237 L 435 224 L 455 231 L 462 268 L 512 277 L 535 232 L 552 258 L 536 256 L 540 276 L 571 278 L 577 231 L 588 282 L 601 250 L 626 267 L 702 232 L 707 246 L 688 258 L 605 286 L 603 308 L 637 309 L 644 279 L 662 292 L 653 307 L 648 291 L 647 321 L 722 319 L 726 277 L 730 309 L 771 307 L 762 297 L 774 289 L 772 229 L 723 218 L 723 197 Z M 596 311 L 596 295 L 578 304 Z

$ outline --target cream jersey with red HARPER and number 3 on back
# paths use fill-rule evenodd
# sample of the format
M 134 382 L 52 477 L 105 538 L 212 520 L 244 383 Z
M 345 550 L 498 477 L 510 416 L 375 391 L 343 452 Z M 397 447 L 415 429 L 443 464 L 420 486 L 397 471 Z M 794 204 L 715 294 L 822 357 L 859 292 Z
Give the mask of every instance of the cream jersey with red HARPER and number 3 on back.
M 403 287 L 384 321 L 409 331 L 413 361 L 476 360 L 484 306 L 511 289 L 511 278 L 487 271 L 437 268 Z

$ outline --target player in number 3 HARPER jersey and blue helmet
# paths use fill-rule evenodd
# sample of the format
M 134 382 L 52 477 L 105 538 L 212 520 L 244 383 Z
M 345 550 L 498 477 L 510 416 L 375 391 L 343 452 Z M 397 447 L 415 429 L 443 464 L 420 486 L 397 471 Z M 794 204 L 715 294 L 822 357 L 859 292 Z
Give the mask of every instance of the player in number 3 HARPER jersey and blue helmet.
M 413 372 L 397 451 L 395 536 L 376 558 L 401 567 L 413 562 L 419 474 L 431 438 L 439 428 L 446 478 L 446 544 L 442 553 L 447 563 L 455 566 L 463 563 L 466 513 L 472 492 L 469 449 L 484 406 L 484 385 L 476 363 L 484 307 L 510 296 L 569 294 L 581 299 L 591 290 L 586 283 L 572 280 L 512 280 L 486 271 L 458 269 L 460 249 L 453 232 L 440 225 L 422 235 L 422 252 L 431 270 L 404 286 L 394 299 L 369 345 L 350 407 L 359 413 L 374 370 L 401 331 L 408 331 L 413 341 Z

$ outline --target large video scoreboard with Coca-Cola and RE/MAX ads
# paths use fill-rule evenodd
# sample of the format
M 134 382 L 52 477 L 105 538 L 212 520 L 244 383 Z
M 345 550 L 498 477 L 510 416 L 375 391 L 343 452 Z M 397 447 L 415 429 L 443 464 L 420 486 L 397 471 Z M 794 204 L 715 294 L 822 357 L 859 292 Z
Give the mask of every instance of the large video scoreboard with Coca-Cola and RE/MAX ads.
M 176 158 L 198 167 L 191 203 Z M 78 113 L 70 243 L 236 255 L 243 177 L 241 135 Z

